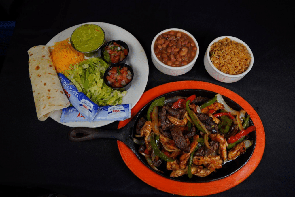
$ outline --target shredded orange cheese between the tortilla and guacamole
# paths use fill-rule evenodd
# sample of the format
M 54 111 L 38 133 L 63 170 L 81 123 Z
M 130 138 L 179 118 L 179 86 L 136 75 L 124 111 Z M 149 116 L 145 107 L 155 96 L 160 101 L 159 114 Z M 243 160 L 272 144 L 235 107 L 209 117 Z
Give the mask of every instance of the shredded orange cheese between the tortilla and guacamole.
M 84 60 L 84 54 L 76 51 L 69 43 L 67 38 L 55 43 L 50 50 L 50 56 L 53 61 L 56 72 L 65 74 L 70 70 L 70 65 L 77 64 Z

